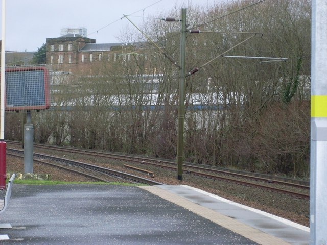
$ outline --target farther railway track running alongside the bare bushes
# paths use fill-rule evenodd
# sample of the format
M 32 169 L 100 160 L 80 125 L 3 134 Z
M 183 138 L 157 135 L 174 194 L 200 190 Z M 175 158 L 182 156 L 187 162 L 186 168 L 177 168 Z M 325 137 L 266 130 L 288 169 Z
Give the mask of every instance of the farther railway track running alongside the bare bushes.
M 17 142 L 10 141 L 10 144 L 19 144 Z M 114 154 L 114 153 L 104 153 L 104 152 L 96 152 L 84 149 L 75 149 L 75 148 L 63 148 L 62 146 L 49 146 L 49 145 L 42 145 L 42 144 L 35 144 L 35 148 L 44 149 L 44 150 L 58 150 L 61 152 L 67 152 L 71 154 L 83 154 L 88 156 L 94 157 L 102 157 L 102 158 L 109 158 L 115 159 L 120 161 L 127 161 L 133 162 L 137 164 L 143 165 L 151 165 L 154 167 L 161 167 L 169 170 L 176 170 L 176 163 L 168 160 L 158 160 L 152 158 L 144 158 L 144 157 L 136 157 L 136 156 L 127 156 L 122 154 Z M 34 154 L 35 155 L 35 154 Z M 268 176 L 253 176 L 249 175 L 248 173 L 242 173 L 238 171 L 227 171 L 226 169 L 217 169 L 217 168 L 209 168 L 203 166 L 195 166 L 192 164 L 184 164 L 184 173 L 204 178 L 209 178 L 213 180 L 221 180 L 221 181 L 228 181 L 240 185 L 251 186 L 256 188 L 263 188 L 270 191 L 278 192 L 278 193 L 285 193 L 292 195 L 294 197 L 309 199 L 309 183 L 306 182 L 291 182 L 289 179 L 285 178 L 268 178 Z M 278 185 L 278 188 L 272 185 Z M 279 188 L 279 187 L 282 188 Z M 301 191 L 296 191 L 296 190 Z

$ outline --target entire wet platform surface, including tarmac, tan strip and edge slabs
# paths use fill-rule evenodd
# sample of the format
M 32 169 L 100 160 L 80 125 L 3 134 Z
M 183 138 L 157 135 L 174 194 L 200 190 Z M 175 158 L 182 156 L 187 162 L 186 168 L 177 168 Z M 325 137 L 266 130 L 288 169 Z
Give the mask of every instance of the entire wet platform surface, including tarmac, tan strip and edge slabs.
M 14 185 L 0 243 L 309 243 L 305 227 L 246 210 L 188 186 Z

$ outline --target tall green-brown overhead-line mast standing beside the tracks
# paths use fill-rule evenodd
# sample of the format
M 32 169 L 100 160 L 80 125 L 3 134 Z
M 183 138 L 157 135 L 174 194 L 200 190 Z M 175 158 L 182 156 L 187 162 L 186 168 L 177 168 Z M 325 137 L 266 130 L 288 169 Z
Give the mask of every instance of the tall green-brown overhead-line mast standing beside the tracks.
M 183 141 L 185 117 L 185 50 L 186 50 L 186 9 L 181 10 L 181 39 L 180 39 L 180 82 L 178 106 L 178 132 L 177 132 L 177 179 L 183 180 Z

